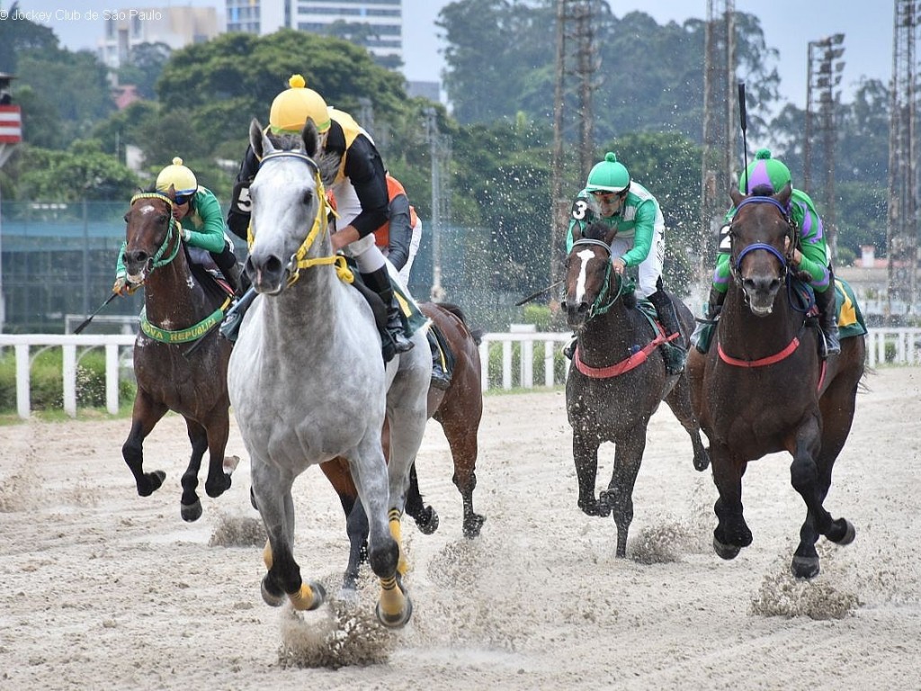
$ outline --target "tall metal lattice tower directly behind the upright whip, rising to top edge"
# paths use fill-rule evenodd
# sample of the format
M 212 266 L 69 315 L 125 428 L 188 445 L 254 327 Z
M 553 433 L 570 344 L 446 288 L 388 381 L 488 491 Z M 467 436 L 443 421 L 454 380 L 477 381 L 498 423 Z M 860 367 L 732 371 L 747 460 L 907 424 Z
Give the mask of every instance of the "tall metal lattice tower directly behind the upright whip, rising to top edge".
M 704 46 L 704 155 L 701 166 L 701 256 L 704 277 L 717 248 L 719 225 L 735 185 L 738 111 L 735 1 L 707 0 Z

